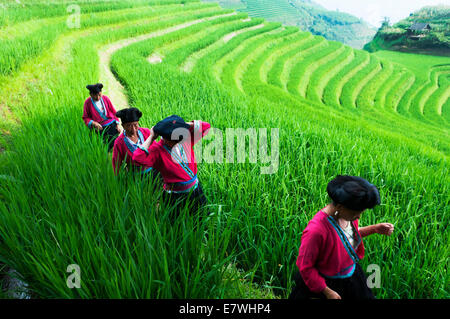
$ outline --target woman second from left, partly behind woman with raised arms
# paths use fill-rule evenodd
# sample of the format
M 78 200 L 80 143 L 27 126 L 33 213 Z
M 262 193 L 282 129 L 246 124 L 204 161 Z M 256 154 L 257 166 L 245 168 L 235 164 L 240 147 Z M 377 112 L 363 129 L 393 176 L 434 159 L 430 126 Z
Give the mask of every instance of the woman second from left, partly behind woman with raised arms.
M 142 112 L 132 107 L 117 111 L 116 116 L 120 118 L 123 133 L 116 138 L 113 148 L 112 165 L 117 175 L 122 164 L 126 163 L 126 170 L 146 174 L 152 171 L 152 167 L 141 166 L 132 161 L 133 153 L 139 145 L 150 136 L 150 129 L 139 127 L 139 119 Z

